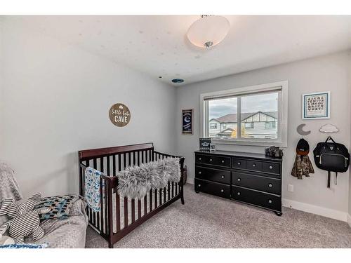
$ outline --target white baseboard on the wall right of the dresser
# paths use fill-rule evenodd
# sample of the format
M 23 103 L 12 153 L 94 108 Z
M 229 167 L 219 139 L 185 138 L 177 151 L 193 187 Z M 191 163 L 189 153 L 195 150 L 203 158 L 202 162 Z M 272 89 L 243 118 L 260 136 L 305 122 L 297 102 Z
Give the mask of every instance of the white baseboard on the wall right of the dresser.
M 293 208 L 307 213 L 322 215 L 324 217 L 329 217 L 335 220 L 347 222 L 347 213 L 342 211 L 333 210 L 330 208 L 323 208 L 322 206 L 317 206 L 317 205 L 310 205 L 309 203 L 301 203 L 298 201 L 293 201 L 285 198 L 282 199 L 282 205 L 287 208 Z M 350 215 L 348 216 L 350 217 Z

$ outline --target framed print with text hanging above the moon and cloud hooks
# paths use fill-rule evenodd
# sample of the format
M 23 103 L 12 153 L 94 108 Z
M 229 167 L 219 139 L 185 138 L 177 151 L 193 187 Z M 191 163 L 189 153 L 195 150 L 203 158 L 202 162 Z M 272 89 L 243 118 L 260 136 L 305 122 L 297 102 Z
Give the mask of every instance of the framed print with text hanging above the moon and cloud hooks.
M 303 94 L 302 118 L 330 119 L 330 91 Z

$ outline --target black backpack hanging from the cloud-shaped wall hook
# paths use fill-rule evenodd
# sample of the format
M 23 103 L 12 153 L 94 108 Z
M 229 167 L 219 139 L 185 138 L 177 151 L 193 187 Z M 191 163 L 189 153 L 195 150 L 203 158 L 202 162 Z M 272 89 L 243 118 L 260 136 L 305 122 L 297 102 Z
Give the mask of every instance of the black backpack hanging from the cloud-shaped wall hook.
M 328 142 L 331 140 L 332 142 Z M 344 173 L 350 165 L 350 154 L 344 144 L 336 143 L 330 136 L 325 142 L 319 142 L 313 150 L 314 163 L 319 169 L 328 171 L 328 188 L 331 172 Z

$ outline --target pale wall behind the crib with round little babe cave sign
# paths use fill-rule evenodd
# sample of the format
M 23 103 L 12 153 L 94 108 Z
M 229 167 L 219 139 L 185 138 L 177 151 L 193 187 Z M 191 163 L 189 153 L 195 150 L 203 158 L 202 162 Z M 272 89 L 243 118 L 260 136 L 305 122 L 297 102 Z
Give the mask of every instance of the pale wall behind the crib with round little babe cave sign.
M 154 142 L 174 151 L 172 86 L 9 21 L 0 38 L 0 159 L 25 196 L 77 192 L 79 149 Z M 124 128 L 109 119 L 117 102 L 131 110 Z

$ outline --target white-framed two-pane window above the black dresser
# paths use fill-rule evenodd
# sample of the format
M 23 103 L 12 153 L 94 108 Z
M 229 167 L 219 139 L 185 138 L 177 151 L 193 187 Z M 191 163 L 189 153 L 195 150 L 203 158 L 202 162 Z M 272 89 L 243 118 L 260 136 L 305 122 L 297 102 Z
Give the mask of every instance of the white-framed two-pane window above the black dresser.
M 286 147 L 287 88 L 281 81 L 201 94 L 201 136 L 217 144 Z M 220 130 L 211 131 L 213 119 Z

